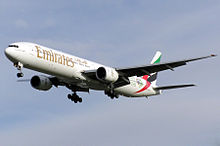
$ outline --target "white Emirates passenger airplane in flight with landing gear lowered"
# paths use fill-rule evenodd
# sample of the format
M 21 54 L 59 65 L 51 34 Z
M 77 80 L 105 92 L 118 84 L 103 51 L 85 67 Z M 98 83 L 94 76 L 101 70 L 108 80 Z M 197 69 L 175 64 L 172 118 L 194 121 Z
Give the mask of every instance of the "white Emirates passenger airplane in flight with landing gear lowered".
M 191 61 L 216 56 L 161 63 L 162 53 L 157 51 L 149 65 L 113 68 L 29 42 L 12 43 L 4 52 L 18 69 L 18 78 L 24 76 L 22 68 L 47 74 L 33 76 L 29 80 L 31 86 L 41 91 L 48 91 L 52 86 L 65 86 L 72 91 L 67 97 L 75 103 L 82 102 L 76 92 L 89 93 L 90 90 L 102 90 L 112 99 L 119 95 L 148 98 L 161 94 L 163 90 L 195 86 L 157 86 L 157 75 L 164 70 L 174 71 L 174 68 Z

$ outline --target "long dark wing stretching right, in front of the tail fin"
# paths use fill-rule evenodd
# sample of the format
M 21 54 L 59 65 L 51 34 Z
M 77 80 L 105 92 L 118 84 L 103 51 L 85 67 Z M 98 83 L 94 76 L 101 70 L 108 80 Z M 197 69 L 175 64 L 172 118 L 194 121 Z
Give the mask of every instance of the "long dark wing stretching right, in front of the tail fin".
M 216 55 L 204 56 L 199 58 L 192 58 L 174 62 L 167 62 L 167 63 L 158 63 L 158 64 L 151 64 L 146 66 L 139 66 L 139 67 L 130 67 L 130 68 L 117 68 L 116 71 L 125 77 L 130 76 L 143 76 L 143 75 L 150 75 L 151 73 L 160 72 L 164 70 L 174 70 L 174 68 L 186 65 L 188 62 L 206 59 L 210 57 L 215 57 Z

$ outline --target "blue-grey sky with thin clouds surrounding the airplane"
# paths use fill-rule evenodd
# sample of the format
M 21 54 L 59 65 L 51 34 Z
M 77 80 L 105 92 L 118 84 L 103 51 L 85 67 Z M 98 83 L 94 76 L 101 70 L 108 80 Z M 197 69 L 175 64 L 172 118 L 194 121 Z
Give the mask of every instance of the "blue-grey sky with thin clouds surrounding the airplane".
M 158 75 L 158 85 L 194 83 L 160 96 L 67 99 L 17 82 L 8 44 L 34 42 L 112 67 L 219 54 L 219 0 L 1 0 L 0 145 L 220 146 L 219 56 Z M 41 73 L 24 69 L 26 79 Z

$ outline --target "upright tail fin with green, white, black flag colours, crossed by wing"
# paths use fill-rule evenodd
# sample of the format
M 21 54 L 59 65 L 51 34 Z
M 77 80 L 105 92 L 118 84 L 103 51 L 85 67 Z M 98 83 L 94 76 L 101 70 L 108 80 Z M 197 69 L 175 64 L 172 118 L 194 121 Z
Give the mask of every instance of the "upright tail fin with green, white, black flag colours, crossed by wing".
M 160 63 L 160 59 L 161 59 L 162 53 L 160 51 L 157 51 L 156 54 L 154 55 L 151 64 L 156 64 L 156 63 Z M 151 85 L 153 87 L 156 87 L 156 83 L 157 83 L 157 72 L 152 73 L 150 75 L 150 77 L 148 78 L 148 81 L 151 83 Z

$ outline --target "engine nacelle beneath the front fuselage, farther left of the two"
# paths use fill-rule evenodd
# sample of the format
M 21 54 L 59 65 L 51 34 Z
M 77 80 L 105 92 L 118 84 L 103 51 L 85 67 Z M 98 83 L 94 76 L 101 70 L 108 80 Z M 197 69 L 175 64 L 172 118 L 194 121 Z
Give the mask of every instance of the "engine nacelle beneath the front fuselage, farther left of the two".
M 47 91 L 52 87 L 52 82 L 45 76 L 33 76 L 31 78 L 31 86 L 38 90 Z

